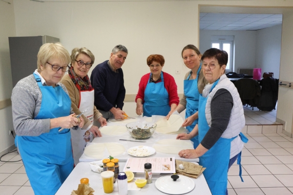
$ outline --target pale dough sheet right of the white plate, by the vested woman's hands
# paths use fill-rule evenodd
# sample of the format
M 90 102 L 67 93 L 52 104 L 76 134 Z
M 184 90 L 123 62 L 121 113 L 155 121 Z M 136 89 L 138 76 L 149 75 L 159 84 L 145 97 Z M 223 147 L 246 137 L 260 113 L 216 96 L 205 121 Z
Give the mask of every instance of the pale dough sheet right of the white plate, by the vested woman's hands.
M 156 152 L 178 155 L 181 150 L 194 149 L 190 140 L 161 139 L 152 146 Z

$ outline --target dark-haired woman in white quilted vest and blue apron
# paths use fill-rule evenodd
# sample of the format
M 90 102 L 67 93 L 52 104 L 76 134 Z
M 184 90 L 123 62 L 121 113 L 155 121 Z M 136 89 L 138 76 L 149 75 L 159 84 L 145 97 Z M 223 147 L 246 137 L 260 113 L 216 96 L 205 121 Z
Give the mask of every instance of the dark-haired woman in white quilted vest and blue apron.
M 200 144 L 194 150 L 180 151 L 179 156 L 199 157 L 199 164 L 207 168 L 204 176 L 212 195 L 228 195 L 228 170 L 238 158 L 241 177 L 241 150 L 248 141 L 241 133 L 245 125 L 243 105 L 237 89 L 225 75 L 227 52 L 211 48 L 202 60 L 209 84 L 199 98 L 198 125 L 190 134 L 177 136 L 177 139 L 190 139 L 198 135 Z

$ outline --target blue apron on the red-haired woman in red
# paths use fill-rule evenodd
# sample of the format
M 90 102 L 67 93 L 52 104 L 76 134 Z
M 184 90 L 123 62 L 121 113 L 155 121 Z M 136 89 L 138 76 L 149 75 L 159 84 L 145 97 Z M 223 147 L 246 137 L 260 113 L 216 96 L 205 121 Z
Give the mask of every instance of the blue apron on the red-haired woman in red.
M 149 78 L 151 74 L 149 75 Z M 145 90 L 145 102 L 143 105 L 144 116 L 151 117 L 152 115 L 167 116 L 171 108 L 169 106 L 169 94 L 164 86 L 163 72 L 161 72 L 161 82 L 147 82 Z

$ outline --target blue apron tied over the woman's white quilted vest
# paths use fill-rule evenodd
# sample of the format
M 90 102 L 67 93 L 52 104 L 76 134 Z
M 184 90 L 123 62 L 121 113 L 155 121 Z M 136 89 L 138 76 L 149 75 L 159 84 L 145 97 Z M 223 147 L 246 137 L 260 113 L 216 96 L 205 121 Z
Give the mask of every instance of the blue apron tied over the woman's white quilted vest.
M 216 86 L 219 79 L 212 85 L 210 92 Z M 209 96 L 208 96 L 209 97 Z M 200 95 L 199 98 L 199 109 L 198 109 L 198 140 L 201 142 L 207 132 L 209 131 L 209 125 L 206 118 L 206 104 L 207 98 L 204 98 Z M 240 133 L 239 135 L 241 140 L 245 143 L 247 142 L 247 138 Z M 236 136 L 237 137 L 237 136 Z M 204 171 L 204 176 L 209 185 L 209 189 L 212 195 L 225 195 L 227 190 L 228 183 L 228 166 L 230 160 L 230 149 L 231 149 L 231 141 L 236 138 L 223 138 L 220 139 L 206 152 L 203 156 L 199 157 L 199 164 L 207 169 Z M 239 176 L 243 182 L 241 176 L 241 152 L 238 154 L 239 164 Z

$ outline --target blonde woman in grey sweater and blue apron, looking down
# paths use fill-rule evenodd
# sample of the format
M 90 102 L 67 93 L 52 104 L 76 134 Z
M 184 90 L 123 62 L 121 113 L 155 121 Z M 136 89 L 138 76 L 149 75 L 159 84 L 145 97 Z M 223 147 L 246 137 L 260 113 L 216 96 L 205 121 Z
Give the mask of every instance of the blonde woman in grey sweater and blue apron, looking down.
M 60 43 L 43 44 L 38 69 L 12 91 L 15 144 L 35 195 L 54 195 L 73 170 L 69 128 L 83 127 L 84 119 L 73 117 L 68 92 L 59 83 L 69 62 Z

